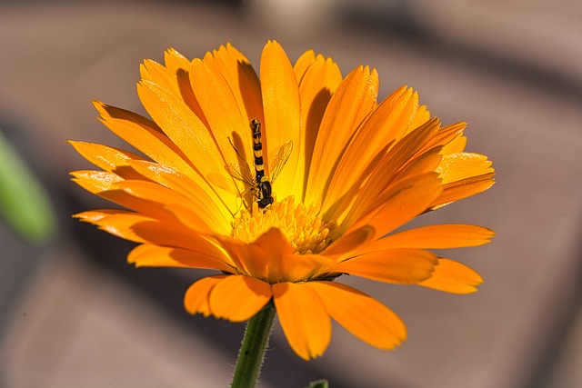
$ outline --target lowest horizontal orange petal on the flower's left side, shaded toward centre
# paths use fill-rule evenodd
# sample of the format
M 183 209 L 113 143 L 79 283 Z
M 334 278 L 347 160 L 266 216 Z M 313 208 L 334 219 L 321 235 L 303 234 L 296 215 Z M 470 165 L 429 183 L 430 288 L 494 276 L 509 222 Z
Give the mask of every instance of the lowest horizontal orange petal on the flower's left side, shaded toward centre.
M 216 251 L 215 251 L 216 252 Z M 212 255 L 213 252 L 193 252 L 155 244 L 136 246 L 128 255 L 127 263 L 136 267 L 187 267 L 232 272 L 231 265 L 224 254 Z

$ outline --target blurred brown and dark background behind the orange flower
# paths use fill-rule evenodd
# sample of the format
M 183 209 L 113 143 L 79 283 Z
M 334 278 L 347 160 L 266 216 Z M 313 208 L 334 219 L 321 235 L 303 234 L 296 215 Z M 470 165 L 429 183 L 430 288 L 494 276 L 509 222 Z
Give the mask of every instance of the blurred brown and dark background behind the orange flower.
M 132 244 L 70 218 L 106 204 L 69 181 L 89 164 L 65 141 L 125 146 L 90 101 L 143 114 L 145 58 L 161 62 L 169 47 L 202 57 L 231 42 L 257 68 L 267 39 L 292 61 L 310 48 L 331 56 L 344 75 L 376 67 L 380 98 L 411 85 L 445 124 L 467 121 L 467 149 L 494 161 L 497 184 L 415 223 L 481 224 L 497 237 L 444 253 L 485 278 L 471 295 L 342 280 L 399 313 L 408 341 L 383 352 L 334 326 L 326 354 L 306 363 L 277 326 L 260 386 L 580 386 L 578 0 L 1 2 L 0 134 L 54 216 L 35 196 L 24 207 L 47 214 L 39 234 L 19 234 L 7 214 L 0 222 L 0 386 L 227 386 L 244 324 L 184 311 L 187 286 L 205 273 L 136 270 L 125 264 Z

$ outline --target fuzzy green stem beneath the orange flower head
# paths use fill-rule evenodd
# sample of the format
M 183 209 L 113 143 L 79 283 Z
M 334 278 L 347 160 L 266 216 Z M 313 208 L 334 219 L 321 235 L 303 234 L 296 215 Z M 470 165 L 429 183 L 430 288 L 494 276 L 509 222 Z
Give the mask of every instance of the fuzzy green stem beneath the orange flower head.
M 265 359 L 266 346 L 269 343 L 275 306 L 269 302 L 260 312 L 246 323 L 245 337 L 236 360 L 235 376 L 232 388 L 255 388 L 261 366 Z

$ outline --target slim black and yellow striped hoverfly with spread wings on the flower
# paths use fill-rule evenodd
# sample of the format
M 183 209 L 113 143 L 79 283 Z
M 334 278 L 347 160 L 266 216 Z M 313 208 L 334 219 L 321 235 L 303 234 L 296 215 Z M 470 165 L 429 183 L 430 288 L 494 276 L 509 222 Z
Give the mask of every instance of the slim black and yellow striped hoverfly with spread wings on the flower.
M 293 142 L 289 140 L 277 149 L 275 157 L 271 162 L 271 176 L 267 177 L 265 175 L 265 161 L 263 160 L 263 143 L 261 142 L 261 123 L 254 118 L 251 120 L 250 126 L 253 134 L 255 177 L 253 178 L 251 169 L 246 162 L 243 164 L 226 164 L 225 168 L 230 176 L 245 184 L 245 192 L 241 196 L 244 196 L 248 192 L 252 193 L 253 197 L 256 198 L 258 208 L 265 209 L 269 204 L 273 204 L 272 184 L 289 159 L 291 150 L 293 149 Z M 245 159 L 238 153 L 235 144 L 232 143 L 230 138 L 228 141 L 235 148 L 238 158 L 244 161 Z

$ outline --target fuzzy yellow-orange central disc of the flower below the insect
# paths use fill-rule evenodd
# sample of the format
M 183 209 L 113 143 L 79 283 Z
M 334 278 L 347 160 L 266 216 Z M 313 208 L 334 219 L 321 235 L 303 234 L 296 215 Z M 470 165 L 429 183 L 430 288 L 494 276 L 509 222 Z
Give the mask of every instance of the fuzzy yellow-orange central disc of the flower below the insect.
M 237 214 L 233 237 L 250 244 L 273 227 L 285 234 L 296 254 L 318 254 L 331 244 L 336 222 L 322 220 L 313 204 L 295 204 L 295 198 L 288 196 L 265 210 L 254 204 L 252 212 L 244 210 Z

